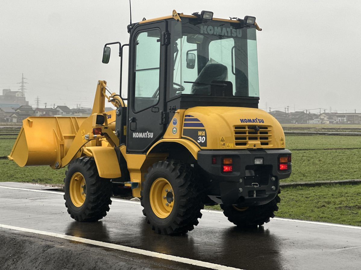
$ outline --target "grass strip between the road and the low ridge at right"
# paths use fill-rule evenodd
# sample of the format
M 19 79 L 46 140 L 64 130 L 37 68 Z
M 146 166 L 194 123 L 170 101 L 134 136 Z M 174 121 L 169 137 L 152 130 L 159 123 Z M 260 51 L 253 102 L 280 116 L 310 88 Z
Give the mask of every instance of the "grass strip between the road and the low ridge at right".
M 361 226 L 361 185 L 284 188 L 279 196 L 277 217 Z

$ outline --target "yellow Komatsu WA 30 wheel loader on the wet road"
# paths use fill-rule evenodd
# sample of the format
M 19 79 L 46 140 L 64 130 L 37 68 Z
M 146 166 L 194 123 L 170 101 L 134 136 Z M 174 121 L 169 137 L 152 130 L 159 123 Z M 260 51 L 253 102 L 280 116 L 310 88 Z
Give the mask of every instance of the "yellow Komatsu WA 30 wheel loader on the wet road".
M 159 234 L 194 229 L 204 205 L 220 204 L 240 227 L 268 222 L 279 181 L 291 174 L 283 129 L 258 109 L 256 18 L 202 11 L 128 26 L 127 98 L 98 81 L 90 117 L 29 117 L 9 159 L 68 166 L 65 206 L 96 221 L 113 195 L 140 198 Z M 120 83 L 122 85 L 122 83 Z M 104 112 L 105 101 L 116 110 Z

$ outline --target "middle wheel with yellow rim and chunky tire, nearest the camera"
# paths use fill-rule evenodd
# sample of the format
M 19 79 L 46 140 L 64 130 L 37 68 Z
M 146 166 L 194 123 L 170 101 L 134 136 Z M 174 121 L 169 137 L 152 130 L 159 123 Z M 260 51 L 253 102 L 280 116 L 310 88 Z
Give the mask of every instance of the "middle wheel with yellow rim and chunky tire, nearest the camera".
M 140 203 L 156 233 L 184 234 L 198 225 L 204 206 L 197 180 L 193 168 L 177 160 L 159 161 L 148 169 Z

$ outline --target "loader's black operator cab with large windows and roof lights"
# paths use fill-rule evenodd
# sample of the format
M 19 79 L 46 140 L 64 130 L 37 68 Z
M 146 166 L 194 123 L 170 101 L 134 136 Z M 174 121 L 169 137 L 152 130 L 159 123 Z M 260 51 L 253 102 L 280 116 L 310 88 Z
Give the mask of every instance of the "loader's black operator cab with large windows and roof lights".
M 178 109 L 258 108 L 256 29 L 261 29 L 255 20 L 173 10 L 128 26 L 127 117 L 118 125 L 127 121 L 129 153 L 147 152 Z

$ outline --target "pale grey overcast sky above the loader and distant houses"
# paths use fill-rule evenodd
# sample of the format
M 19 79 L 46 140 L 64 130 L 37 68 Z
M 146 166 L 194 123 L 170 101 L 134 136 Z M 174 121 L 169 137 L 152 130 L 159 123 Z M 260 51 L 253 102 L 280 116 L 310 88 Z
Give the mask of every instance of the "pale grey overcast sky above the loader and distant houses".
M 133 0 L 132 19 L 173 9 L 211 10 L 217 18 L 253 15 L 263 29 L 257 32 L 260 108 L 361 112 L 361 1 L 201 2 Z M 0 3 L 0 90 L 17 90 L 24 73 L 30 105 L 39 96 L 41 107 L 70 108 L 92 106 L 98 80 L 119 91 L 116 47 L 108 65 L 101 55 L 106 42 L 128 43 L 128 1 Z

